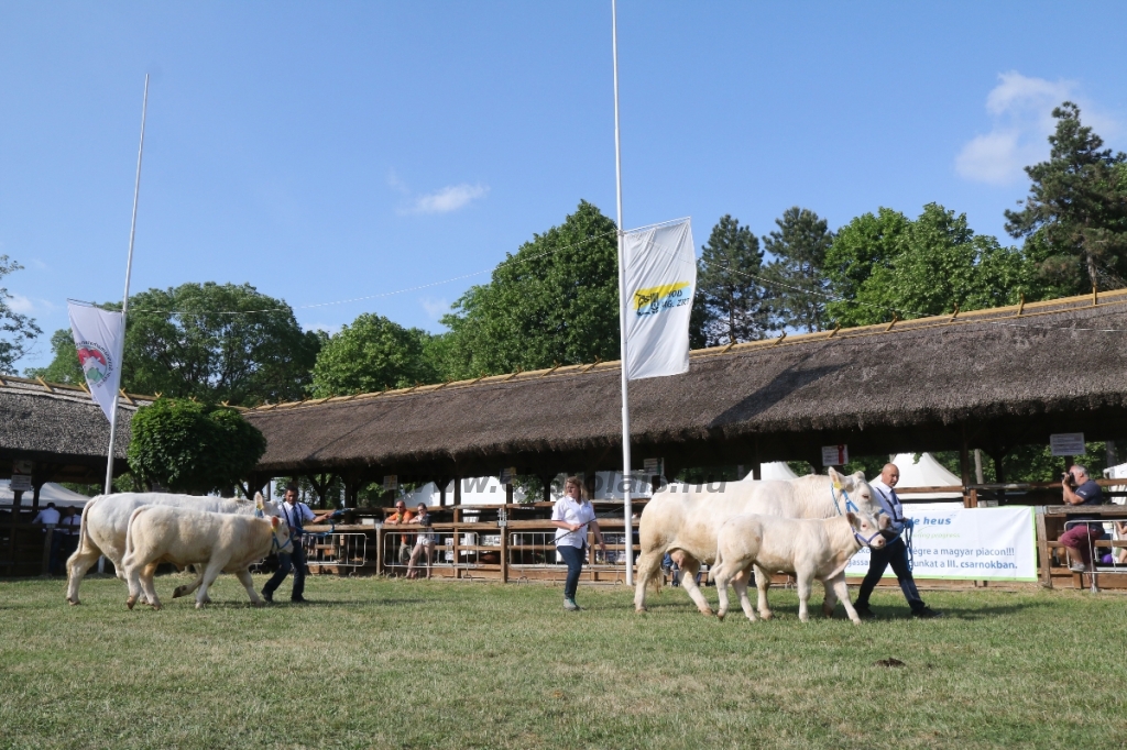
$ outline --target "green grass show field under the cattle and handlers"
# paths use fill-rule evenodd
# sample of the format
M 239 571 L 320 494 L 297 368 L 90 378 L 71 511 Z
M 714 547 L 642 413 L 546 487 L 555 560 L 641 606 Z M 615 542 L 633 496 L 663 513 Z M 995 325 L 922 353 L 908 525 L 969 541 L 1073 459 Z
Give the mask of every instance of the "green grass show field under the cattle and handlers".
M 187 577 L 158 578 L 170 591 Z M 261 580 L 258 580 L 260 586 Z M 1127 597 L 925 592 L 947 613 L 801 624 L 636 615 L 622 587 L 312 578 L 314 604 L 125 608 L 110 579 L 0 582 L 3 748 L 1111 748 Z M 289 582 L 278 592 L 289 597 Z M 707 595 L 715 601 L 715 590 Z M 904 667 L 876 666 L 895 658 Z

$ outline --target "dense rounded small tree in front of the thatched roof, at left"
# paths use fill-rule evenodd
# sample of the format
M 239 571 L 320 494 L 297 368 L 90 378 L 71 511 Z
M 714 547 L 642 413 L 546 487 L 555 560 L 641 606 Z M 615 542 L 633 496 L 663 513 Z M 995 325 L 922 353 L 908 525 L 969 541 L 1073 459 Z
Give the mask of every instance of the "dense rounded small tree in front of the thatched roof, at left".
M 175 492 L 225 490 L 266 453 L 266 438 L 234 409 L 158 399 L 133 416 L 130 470 Z

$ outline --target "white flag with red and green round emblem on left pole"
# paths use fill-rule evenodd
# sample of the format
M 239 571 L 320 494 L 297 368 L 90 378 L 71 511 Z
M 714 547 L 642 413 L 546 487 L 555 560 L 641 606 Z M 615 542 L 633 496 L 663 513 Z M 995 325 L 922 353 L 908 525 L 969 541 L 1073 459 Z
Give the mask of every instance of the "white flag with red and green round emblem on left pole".
M 66 301 L 71 334 L 78 360 L 90 386 L 90 395 L 112 419 L 114 396 L 122 382 L 122 352 L 125 350 L 125 322 L 122 313 L 81 302 Z

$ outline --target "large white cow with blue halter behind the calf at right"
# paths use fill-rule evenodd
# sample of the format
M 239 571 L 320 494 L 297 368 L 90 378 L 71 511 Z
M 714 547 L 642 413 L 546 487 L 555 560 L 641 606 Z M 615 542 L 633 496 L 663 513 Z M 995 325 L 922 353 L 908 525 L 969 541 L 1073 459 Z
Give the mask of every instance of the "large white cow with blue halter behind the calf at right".
M 786 481 L 726 482 L 718 491 L 669 485 L 656 492 L 642 510 L 638 525 L 641 554 L 638 556 L 635 609 L 645 611 L 646 587 L 657 578 L 662 557 L 669 553 L 682 570 L 681 583 L 685 592 L 701 613 L 711 616 L 712 608 L 696 586 L 696 572 L 701 563 L 712 563 L 716 537 L 726 520 L 746 514 L 833 518 L 850 509 L 849 501 L 868 516 L 877 517 L 880 512 L 863 472 L 840 474 L 833 468 L 828 475 L 814 474 Z M 887 523 L 887 517 L 881 523 Z

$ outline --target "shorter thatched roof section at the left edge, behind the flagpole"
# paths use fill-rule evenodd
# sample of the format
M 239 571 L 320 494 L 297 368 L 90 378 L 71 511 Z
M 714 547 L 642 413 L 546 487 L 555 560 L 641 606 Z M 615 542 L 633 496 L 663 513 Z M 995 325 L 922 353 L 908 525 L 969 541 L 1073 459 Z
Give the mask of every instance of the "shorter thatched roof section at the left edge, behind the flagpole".
M 149 401 L 151 396 L 132 394 L 121 399 L 115 463 L 124 464 L 133 413 Z M 64 479 L 98 477 L 105 472 L 109 422 L 81 387 L 0 376 L 0 477 L 11 474 L 14 459 L 34 461 L 37 467 L 50 465 L 52 476 Z

